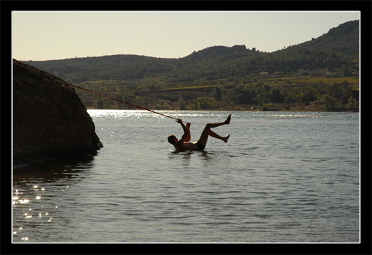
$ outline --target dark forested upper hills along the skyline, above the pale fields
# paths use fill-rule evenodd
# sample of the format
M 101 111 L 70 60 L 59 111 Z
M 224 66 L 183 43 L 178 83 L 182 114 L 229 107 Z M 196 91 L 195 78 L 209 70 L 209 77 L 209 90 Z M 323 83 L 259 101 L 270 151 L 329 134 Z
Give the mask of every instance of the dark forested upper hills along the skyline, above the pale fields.
M 148 88 L 155 88 L 157 81 L 167 88 L 221 84 L 227 79 L 242 82 L 259 72 L 293 75 L 299 69 L 351 73 L 359 70 L 359 21 L 346 22 L 319 38 L 271 53 L 235 45 L 208 47 L 179 59 L 113 55 L 26 63 L 72 84 L 121 80 Z

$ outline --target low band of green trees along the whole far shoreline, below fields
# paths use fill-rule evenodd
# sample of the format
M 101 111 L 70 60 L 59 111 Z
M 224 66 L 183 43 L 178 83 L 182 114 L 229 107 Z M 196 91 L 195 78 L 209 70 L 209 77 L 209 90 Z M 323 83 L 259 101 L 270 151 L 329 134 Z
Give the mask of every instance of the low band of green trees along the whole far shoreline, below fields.
M 177 109 L 246 109 L 247 106 L 250 106 L 261 110 L 275 111 L 291 110 L 291 105 L 307 107 L 318 102 L 321 103 L 319 110 L 359 110 L 357 84 L 350 83 L 346 79 L 342 80 L 342 78 L 337 78 L 337 80 L 339 82 L 328 84 L 314 81 L 286 81 L 284 84 L 280 84 L 280 79 L 278 79 L 279 82 L 271 82 L 271 84 L 270 82 L 252 82 L 247 85 L 229 86 L 230 88 L 214 86 L 209 93 L 200 93 L 199 96 L 191 100 L 186 100 L 185 96 L 179 93 L 179 98 L 176 99 Z M 107 100 L 87 91 L 77 92 L 84 105 L 88 107 L 97 109 L 134 109 L 130 105 L 115 100 Z M 97 86 L 97 92 L 110 95 L 124 102 L 152 109 L 167 109 L 167 105 L 175 103 L 165 99 L 164 96 L 171 90 L 156 93 L 152 98 L 154 99 L 152 102 L 149 102 L 141 94 L 132 93 L 120 85 Z M 172 109 L 175 109 L 175 106 Z

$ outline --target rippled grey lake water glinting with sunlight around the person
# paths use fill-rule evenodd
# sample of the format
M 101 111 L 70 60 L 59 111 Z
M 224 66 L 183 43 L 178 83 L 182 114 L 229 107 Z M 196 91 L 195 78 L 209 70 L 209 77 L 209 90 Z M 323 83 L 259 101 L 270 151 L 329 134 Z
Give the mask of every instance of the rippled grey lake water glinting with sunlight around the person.
M 227 144 L 179 153 L 170 118 L 88 113 L 97 156 L 13 173 L 13 242 L 359 242 L 357 113 L 161 111 L 191 123 L 232 114 L 214 129 Z

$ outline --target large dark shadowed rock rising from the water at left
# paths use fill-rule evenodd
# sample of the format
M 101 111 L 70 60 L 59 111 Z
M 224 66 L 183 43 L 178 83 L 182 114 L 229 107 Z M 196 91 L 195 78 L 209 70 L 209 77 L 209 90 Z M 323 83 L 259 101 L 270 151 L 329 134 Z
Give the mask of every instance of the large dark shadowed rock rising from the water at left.
M 97 155 L 95 124 L 74 88 L 13 60 L 13 167 Z

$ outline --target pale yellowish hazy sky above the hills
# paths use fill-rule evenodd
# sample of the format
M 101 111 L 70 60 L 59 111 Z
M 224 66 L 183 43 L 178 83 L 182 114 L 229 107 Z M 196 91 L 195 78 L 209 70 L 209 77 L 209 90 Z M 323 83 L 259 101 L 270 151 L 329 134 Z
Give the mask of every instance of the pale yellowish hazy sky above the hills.
M 13 58 L 42 61 L 136 54 L 179 58 L 223 45 L 274 52 L 359 20 L 359 12 L 20 12 Z

